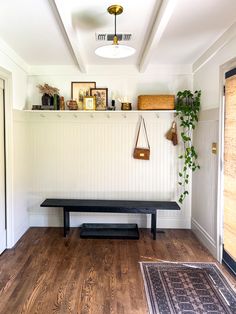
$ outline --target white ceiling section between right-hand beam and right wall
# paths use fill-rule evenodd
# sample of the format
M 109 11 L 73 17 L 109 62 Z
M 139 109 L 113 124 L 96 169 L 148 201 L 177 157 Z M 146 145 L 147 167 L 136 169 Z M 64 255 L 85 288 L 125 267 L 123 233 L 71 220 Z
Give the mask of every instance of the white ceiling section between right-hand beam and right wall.
M 151 63 L 192 64 L 236 21 L 236 0 L 178 0 Z

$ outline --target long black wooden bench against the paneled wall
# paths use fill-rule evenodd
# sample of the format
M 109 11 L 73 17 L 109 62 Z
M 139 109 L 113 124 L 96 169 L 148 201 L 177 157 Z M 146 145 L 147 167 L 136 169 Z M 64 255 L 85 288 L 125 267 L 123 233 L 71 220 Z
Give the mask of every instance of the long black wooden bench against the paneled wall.
M 180 210 L 173 201 L 126 201 L 47 198 L 40 206 L 61 207 L 64 216 L 64 237 L 70 230 L 70 212 L 139 213 L 151 215 L 151 232 L 156 239 L 157 210 Z

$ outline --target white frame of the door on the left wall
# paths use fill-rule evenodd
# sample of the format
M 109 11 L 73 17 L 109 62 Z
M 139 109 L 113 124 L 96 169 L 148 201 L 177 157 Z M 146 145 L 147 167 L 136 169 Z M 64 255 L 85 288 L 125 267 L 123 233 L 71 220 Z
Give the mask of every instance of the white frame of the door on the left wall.
M 12 74 L 0 67 L 0 78 L 4 81 L 5 95 L 5 169 L 6 169 L 6 247 L 14 245 L 13 235 L 13 123 L 12 123 Z

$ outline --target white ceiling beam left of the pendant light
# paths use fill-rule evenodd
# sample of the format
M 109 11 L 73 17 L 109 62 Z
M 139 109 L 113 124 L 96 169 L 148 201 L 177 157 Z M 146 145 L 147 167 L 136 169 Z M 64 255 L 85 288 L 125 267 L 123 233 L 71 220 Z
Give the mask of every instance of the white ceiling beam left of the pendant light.
M 66 10 L 65 2 L 66 1 L 61 0 L 50 0 L 50 4 L 54 9 L 54 12 L 56 12 L 58 24 L 62 30 L 70 53 L 72 54 L 72 57 L 75 60 L 80 71 L 86 73 L 86 66 L 82 58 L 78 38 L 71 22 L 70 12 Z

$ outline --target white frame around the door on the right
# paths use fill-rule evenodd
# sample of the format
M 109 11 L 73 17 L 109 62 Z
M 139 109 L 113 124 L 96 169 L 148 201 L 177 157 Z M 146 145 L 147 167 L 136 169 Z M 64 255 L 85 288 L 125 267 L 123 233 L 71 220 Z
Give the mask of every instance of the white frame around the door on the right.
M 219 158 L 217 191 L 217 260 L 222 263 L 224 244 L 224 111 L 225 73 L 236 67 L 236 58 L 220 66 L 220 108 L 219 108 Z

